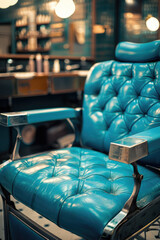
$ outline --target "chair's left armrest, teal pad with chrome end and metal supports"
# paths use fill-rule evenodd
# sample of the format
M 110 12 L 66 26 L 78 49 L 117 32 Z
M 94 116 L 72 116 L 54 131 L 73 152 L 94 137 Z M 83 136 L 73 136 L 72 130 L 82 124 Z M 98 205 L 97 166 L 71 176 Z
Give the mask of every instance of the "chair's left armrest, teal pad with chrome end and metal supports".
M 75 142 L 79 141 L 78 124 L 72 120 L 81 119 L 81 108 L 52 108 L 42 110 L 30 110 L 22 112 L 0 113 L 0 124 L 5 127 L 14 127 L 17 131 L 16 143 L 12 153 L 11 160 L 20 158 L 19 147 L 22 140 L 20 127 L 21 125 L 35 124 L 40 122 L 48 122 L 54 120 L 67 120 L 73 131 L 75 132 Z M 68 147 L 71 147 L 70 145 Z

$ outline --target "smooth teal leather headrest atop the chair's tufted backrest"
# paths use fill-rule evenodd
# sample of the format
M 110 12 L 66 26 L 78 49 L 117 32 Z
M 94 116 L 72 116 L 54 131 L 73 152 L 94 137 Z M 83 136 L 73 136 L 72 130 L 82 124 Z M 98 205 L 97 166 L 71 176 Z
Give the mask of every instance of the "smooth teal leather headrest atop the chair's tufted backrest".
M 121 42 L 116 47 L 116 59 L 123 62 L 151 62 L 160 59 L 160 40 L 149 43 Z

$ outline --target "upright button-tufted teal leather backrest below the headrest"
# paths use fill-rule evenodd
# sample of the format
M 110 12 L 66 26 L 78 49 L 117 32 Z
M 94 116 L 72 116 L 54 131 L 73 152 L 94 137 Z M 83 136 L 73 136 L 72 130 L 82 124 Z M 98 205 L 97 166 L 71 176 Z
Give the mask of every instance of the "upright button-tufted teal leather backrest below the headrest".
M 160 62 L 94 65 L 83 108 L 82 142 L 101 152 L 111 141 L 160 126 Z

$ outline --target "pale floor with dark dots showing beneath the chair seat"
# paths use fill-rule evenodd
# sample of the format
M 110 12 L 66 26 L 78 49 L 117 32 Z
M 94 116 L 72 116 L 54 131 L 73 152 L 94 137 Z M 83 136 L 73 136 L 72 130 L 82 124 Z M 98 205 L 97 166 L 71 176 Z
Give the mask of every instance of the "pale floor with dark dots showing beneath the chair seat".
M 49 220 L 45 219 L 44 217 L 40 216 L 30 208 L 24 206 L 20 202 L 13 199 L 16 205 L 16 208 L 23 212 L 25 215 L 30 217 L 32 220 L 34 220 L 36 223 L 41 225 L 42 227 L 46 228 L 48 231 L 52 232 L 54 235 L 57 235 L 62 240 L 82 240 L 82 238 L 71 234 L 59 227 L 57 227 L 55 224 L 50 222 Z M 159 228 L 158 226 L 155 228 Z M 158 231 L 149 231 L 147 232 L 147 240 L 157 240 L 156 235 Z M 137 240 L 144 239 L 144 233 L 142 233 L 139 237 L 135 238 Z M 158 238 L 160 239 L 160 238 Z M 0 240 L 4 240 L 4 227 L 3 227 L 3 209 L 2 209 L 2 199 L 0 197 Z

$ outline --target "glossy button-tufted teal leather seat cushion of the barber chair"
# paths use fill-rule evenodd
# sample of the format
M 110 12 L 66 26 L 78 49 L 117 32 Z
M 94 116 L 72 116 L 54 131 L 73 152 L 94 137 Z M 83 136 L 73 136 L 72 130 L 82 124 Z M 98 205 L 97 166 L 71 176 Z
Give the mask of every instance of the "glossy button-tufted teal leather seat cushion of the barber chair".
M 142 166 L 139 172 L 143 207 L 160 194 L 160 176 Z M 132 193 L 132 174 L 132 166 L 106 154 L 73 147 L 9 162 L 0 184 L 60 227 L 93 240 Z

